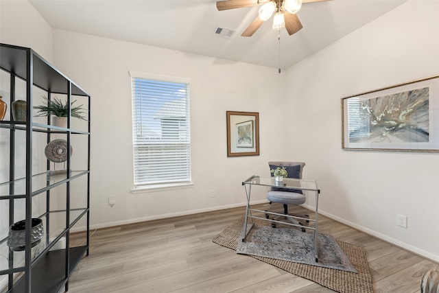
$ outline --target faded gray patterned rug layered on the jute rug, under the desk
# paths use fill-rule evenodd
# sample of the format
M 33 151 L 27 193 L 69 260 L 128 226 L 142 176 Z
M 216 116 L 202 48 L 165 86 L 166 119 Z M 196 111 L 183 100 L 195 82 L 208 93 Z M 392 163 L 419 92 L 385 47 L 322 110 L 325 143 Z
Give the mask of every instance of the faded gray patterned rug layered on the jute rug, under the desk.
M 317 247 L 318 262 L 314 253 L 313 232 L 302 232 L 294 228 L 253 226 L 246 241 L 238 242 L 236 253 L 357 272 L 331 235 L 320 233 Z

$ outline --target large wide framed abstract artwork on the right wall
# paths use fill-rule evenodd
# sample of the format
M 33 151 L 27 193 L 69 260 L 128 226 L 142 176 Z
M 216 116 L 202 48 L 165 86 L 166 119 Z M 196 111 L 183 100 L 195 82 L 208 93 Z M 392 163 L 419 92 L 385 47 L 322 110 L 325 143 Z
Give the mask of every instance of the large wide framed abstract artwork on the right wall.
M 344 150 L 439 151 L 439 75 L 342 98 Z

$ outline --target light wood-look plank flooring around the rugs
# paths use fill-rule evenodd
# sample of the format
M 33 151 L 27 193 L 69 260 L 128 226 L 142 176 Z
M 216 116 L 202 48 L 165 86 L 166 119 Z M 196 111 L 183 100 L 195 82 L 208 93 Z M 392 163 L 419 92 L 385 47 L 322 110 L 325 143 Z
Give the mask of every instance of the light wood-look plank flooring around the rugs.
M 253 206 L 273 209 L 270 204 Z M 281 207 L 280 207 L 281 209 Z M 69 292 L 333 292 L 212 242 L 245 208 L 98 229 Z M 420 292 L 438 263 L 322 215 L 319 232 L 366 249 L 375 292 Z M 74 242 L 73 242 L 74 243 Z

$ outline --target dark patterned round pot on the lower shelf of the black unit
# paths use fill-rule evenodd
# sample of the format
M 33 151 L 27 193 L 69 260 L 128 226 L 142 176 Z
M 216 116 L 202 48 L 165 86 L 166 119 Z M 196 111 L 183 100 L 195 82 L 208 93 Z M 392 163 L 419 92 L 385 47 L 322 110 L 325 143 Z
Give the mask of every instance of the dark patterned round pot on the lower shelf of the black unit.
M 26 220 L 16 222 L 9 227 L 9 235 L 6 244 L 8 244 L 10 250 L 21 251 L 25 249 L 25 227 Z M 39 218 L 32 218 L 32 228 L 30 233 L 31 247 L 34 247 L 36 244 L 40 243 L 43 234 L 43 220 Z

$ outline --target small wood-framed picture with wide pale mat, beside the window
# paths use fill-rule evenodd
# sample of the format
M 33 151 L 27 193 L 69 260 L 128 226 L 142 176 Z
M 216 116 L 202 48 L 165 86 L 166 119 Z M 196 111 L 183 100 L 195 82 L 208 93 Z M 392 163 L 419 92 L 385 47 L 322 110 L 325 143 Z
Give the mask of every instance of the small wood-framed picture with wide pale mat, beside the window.
M 227 156 L 259 155 L 259 113 L 226 111 Z

